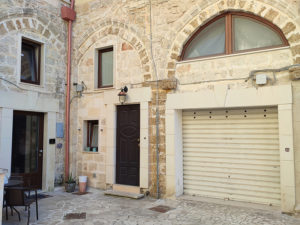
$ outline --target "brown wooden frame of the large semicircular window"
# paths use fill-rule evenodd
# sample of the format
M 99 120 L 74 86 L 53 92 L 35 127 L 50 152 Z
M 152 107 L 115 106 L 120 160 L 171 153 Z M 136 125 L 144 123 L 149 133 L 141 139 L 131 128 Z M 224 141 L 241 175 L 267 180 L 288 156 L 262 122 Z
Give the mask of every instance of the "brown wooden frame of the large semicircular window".
M 251 49 L 246 49 L 246 50 L 240 50 L 240 51 L 234 51 L 234 16 L 239 16 L 239 17 L 247 17 L 250 20 L 254 20 L 258 23 L 261 23 L 265 25 L 266 27 L 270 28 L 273 30 L 275 33 L 279 35 L 279 37 L 282 40 L 281 45 L 272 45 L 272 46 L 267 46 L 267 47 L 261 47 L 261 48 L 251 48 Z M 191 57 L 188 59 L 184 59 L 184 55 L 186 53 L 187 48 L 189 47 L 190 43 L 197 37 L 197 35 L 203 31 L 207 26 L 210 24 L 216 22 L 217 20 L 225 17 L 225 51 L 224 53 L 221 54 L 212 54 L 212 55 L 206 55 L 206 56 L 198 56 L 198 57 Z M 226 12 L 223 13 L 219 16 L 216 16 L 215 18 L 211 19 L 207 23 L 205 23 L 203 26 L 201 26 L 190 38 L 189 40 L 184 44 L 181 55 L 180 55 L 180 61 L 187 61 L 187 60 L 193 60 L 193 59 L 200 59 L 200 58 L 209 58 L 209 57 L 215 57 L 215 56 L 223 56 L 223 55 L 230 55 L 230 54 L 238 54 L 238 53 L 244 53 L 244 52 L 253 52 L 253 51 L 259 51 L 259 50 L 265 50 L 265 49 L 272 49 L 272 48 L 279 48 L 279 47 L 285 47 L 289 46 L 289 42 L 286 39 L 285 35 L 281 31 L 279 27 L 277 27 L 275 24 L 272 22 L 253 15 L 249 13 L 244 13 L 244 12 Z

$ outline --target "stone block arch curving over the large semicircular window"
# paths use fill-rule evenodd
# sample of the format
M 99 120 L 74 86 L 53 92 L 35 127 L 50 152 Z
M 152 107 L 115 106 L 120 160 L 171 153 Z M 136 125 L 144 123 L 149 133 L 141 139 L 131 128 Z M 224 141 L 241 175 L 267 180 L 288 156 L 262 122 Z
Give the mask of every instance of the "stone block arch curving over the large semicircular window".
M 266 1 L 269 2 L 269 1 Z M 280 2 L 280 0 L 279 0 Z M 198 5 L 199 7 L 199 5 Z M 195 11 L 195 9 L 194 9 Z M 208 21 L 227 11 L 240 11 L 262 17 L 281 29 L 291 46 L 294 63 L 300 63 L 300 39 L 297 23 L 283 11 L 258 0 L 235 1 L 219 0 L 214 4 L 206 4 L 205 8 L 198 10 L 197 15 L 189 17 L 178 31 L 171 45 L 166 65 L 167 77 L 175 76 L 176 62 L 179 61 L 183 46 L 193 34 Z M 188 12 L 187 12 L 188 13 Z M 186 17 L 185 17 L 186 18 Z M 297 47 L 298 46 L 298 47 Z

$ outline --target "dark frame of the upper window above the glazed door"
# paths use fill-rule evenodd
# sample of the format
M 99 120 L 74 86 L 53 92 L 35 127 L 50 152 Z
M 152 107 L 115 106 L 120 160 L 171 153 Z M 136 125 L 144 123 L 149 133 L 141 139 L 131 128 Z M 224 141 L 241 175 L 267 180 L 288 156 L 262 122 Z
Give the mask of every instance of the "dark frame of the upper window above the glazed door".
M 42 49 L 42 45 L 37 43 L 37 42 L 22 38 L 21 54 L 22 54 L 23 45 L 25 45 L 26 48 L 32 48 L 34 50 L 33 51 L 34 53 L 35 53 L 35 49 L 37 48 L 39 55 L 38 55 L 38 61 L 37 62 L 36 62 L 36 57 L 34 57 L 34 64 L 36 64 L 34 66 L 36 81 L 28 81 L 28 80 L 23 80 L 22 79 L 22 56 L 21 56 L 20 81 L 22 83 L 40 85 L 41 84 L 41 53 L 42 53 L 41 49 Z

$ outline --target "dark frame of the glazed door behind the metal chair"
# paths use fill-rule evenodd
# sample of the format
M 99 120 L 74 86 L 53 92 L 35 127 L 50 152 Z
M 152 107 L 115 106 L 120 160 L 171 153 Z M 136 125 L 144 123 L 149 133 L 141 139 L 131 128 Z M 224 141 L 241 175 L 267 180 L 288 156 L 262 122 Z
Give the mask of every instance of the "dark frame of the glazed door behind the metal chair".
M 36 115 L 39 116 L 40 118 L 40 123 L 39 123 L 39 146 L 38 146 L 38 154 L 40 153 L 40 150 L 44 150 L 44 113 L 41 112 L 32 112 L 32 111 L 21 111 L 21 110 L 14 110 L 13 111 L 13 120 L 14 120 L 14 116 L 15 115 Z M 14 132 L 14 130 L 12 130 L 12 132 Z M 12 139 L 13 142 L 13 139 Z M 12 147 L 13 147 L 13 143 L 12 143 Z M 11 153 L 13 154 L 13 149 L 11 151 Z M 11 164 L 13 161 L 13 156 L 11 155 Z M 38 186 L 36 186 L 37 188 L 41 189 L 42 185 L 43 185 L 43 152 L 42 152 L 42 156 L 38 158 Z M 12 173 L 12 176 L 23 176 L 26 177 L 25 173 Z M 25 179 L 26 180 L 26 179 Z

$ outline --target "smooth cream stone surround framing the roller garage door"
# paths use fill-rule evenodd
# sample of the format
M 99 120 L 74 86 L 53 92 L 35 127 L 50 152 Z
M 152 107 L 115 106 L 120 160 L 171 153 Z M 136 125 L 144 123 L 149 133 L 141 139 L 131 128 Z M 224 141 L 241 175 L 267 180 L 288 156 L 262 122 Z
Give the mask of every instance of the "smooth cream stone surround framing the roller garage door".
M 183 193 L 181 110 L 258 106 L 278 106 L 281 210 L 294 211 L 296 186 L 291 85 L 246 89 L 215 88 L 193 93 L 168 94 L 166 102 L 167 196 L 178 196 Z M 288 152 L 285 151 L 286 148 L 289 148 Z

